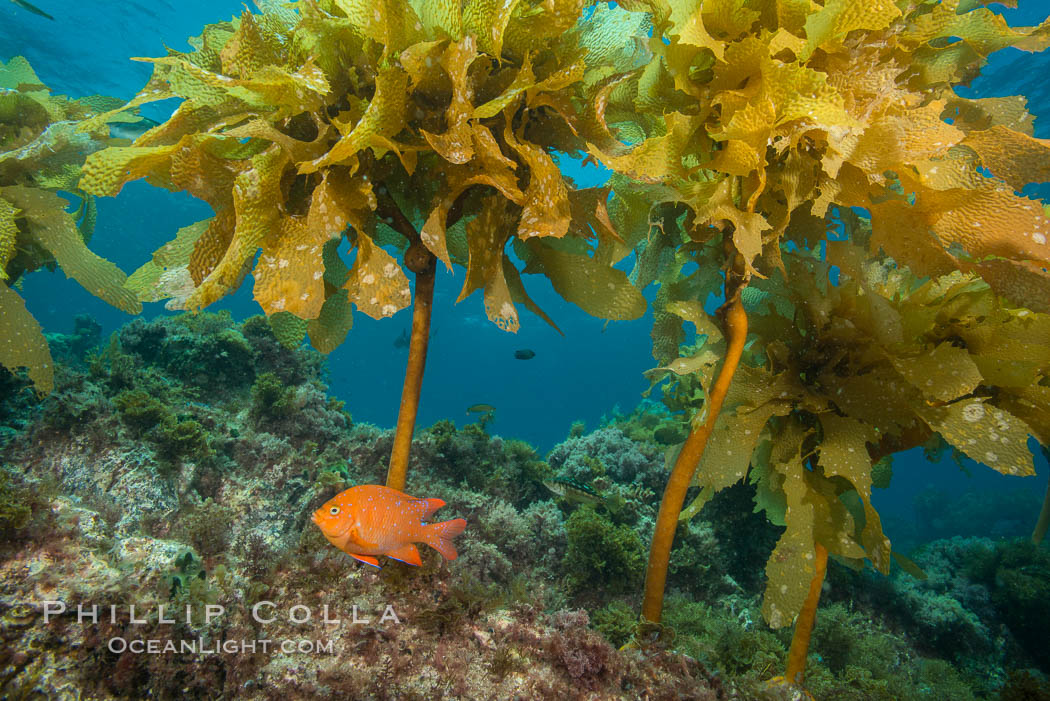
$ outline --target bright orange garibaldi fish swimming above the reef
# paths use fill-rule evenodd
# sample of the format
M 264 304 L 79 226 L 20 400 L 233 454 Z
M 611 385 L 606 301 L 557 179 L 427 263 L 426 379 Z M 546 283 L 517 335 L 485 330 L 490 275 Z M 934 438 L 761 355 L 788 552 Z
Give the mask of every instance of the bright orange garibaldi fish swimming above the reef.
M 439 498 L 416 498 L 380 485 L 360 485 L 340 492 L 314 511 L 314 523 L 332 545 L 362 562 L 379 567 L 376 555 L 420 566 L 414 543 L 425 543 L 447 559 L 458 553 L 452 538 L 466 521 L 424 524 L 443 507 Z

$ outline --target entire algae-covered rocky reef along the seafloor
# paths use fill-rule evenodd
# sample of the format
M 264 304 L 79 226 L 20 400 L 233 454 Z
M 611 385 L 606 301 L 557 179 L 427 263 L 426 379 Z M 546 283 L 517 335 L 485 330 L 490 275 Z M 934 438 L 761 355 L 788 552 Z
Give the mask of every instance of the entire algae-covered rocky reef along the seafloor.
M 546 456 L 483 424 L 420 431 L 410 491 L 467 519 L 460 557 L 376 570 L 310 514 L 381 482 L 393 431 L 328 395 L 318 354 L 261 317 L 140 319 L 97 347 L 78 341 L 89 328 L 49 339 L 69 352 L 46 399 L 2 380 L 5 698 L 779 698 L 764 685 L 790 635 L 761 596 L 781 529 L 741 508 L 744 484 L 679 527 L 664 624 L 620 650 L 666 415 L 575 428 Z M 914 555 L 925 579 L 833 562 L 815 697 L 1045 698 L 1046 551 L 952 539 Z

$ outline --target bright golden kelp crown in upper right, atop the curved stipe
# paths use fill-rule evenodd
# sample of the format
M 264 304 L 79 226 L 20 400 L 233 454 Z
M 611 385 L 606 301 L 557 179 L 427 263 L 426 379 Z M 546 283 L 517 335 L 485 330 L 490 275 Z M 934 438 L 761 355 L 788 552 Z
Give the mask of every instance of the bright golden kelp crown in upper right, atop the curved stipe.
M 694 241 L 726 222 L 765 274 L 781 268 L 782 240 L 813 243 L 834 226 L 833 205 L 863 208 L 874 252 L 920 275 L 974 271 L 1050 311 L 1050 226 L 1015 192 L 1050 179 L 1050 143 L 1032 137 L 1023 97 L 953 89 L 992 51 L 1046 48 L 1050 24 L 1011 28 L 958 0 L 623 4 L 665 40 L 609 88 L 607 118 L 645 139 L 626 153 L 590 149 L 631 178 L 617 189 L 625 207 L 688 207 Z

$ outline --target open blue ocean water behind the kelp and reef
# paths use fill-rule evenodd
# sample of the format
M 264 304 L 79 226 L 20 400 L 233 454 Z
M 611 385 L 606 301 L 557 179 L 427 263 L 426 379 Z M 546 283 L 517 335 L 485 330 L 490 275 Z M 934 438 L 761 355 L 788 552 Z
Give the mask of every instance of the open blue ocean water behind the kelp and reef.
M 56 19 L 33 15 L 13 2 L 0 2 L 0 58 L 25 56 L 55 92 L 74 97 L 102 93 L 122 99 L 130 99 L 150 73 L 149 64 L 132 62 L 130 57 L 163 56 L 166 46 L 185 49 L 186 38 L 198 34 L 205 24 L 237 15 L 244 8 L 234 0 L 38 0 L 37 4 Z M 1000 9 L 1014 24 L 1035 24 L 1046 14 L 1043 2 Z M 1018 68 L 1020 58 L 1013 49 L 994 55 L 971 86 L 970 94 L 1028 95 L 1029 109 L 1045 115 L 1036 120 L 1036 135 L 1048 137 L 1050 87 L 1041 77 L 1050 75 L 1050 52 L 1025 57 L 1023 68 Z M 156 103 L 143 111 L 163 120 L 173 108 L 172 103 Z M 602 179 L 595 169 L 583 169 L 571 162 L 566 162 L 564 169 L 581 184 Z M 1050 199 L 1045 186 L 1027 193 Z M 180 227 L 210 214 L 206 205 L 185 194 L 132 183 L 119 197 L 99 200 L 99 226 L 91 247 L 130 272 L 148 260 Z M 471 420 L 465 413 L 467 406 L 486 403 L 497 407 L 489 430 L 526 440 L 546 451 L 566 436 L 573 421 L 584 421 L 593 428 L 614 407 L 626 412 L 637 404 L 647 387 L 642 373 L 654 365 L 650 356 L 650 315 L 632 322 L 606 324 L 564 302 L 545 280 L 529 276 L 526 289 L 561 326 L 564 336 L 529 314 L 523 315 L 518 334 L 506 334 L 485 318 L 479 293 L 455 304 L 462 282 L 463 271 L 439 272 L 419 427 L 439 419 L 453 419 L 462 425 Z M 76 314 L 94 316 L 105 333 L 129 319 L 61 273 L 27 276 L 24 297 L 29 311 L 49 332 L 68 332 Z M 238 319 L 258 313 L 251 297 L 251 277 L 236 295 L 211 309 L 228 309 Z M 167 314 L 162 304 L 146 305 L 145 316 L 158 314 Z M 329 356 L 331 391 L 346 401 L 355 420 L 394 425 L 406 355 L 405 349 L 394 345 L 394 340 L 410 325 L 408 310 L 384 321 L 358 314 L 348 341 Z M 536 357 L 516 360 L 513 352 L 518 348 L 530 348 Z M 874 498 L 890 522 L 887 532 L 892 537 L 892 521 L 899 518 L 900 528 L 905 528 L 911 522 L 916 495 L 924 489 L 932 487 L 949 495 L 966 490 L 989 493 L 1022 489 L 1041 497 L 1048 471 L 1042 456 L 1036 459 L 1036 477 L 1022 480 L 969 464 L 969 476 L 961 479 L 965 473 L 954 464 L 931 464 L 912 451 L 898 456 L 892 488 L 878 492 Z M 1034 517 L 1032 513 L 1028 521 Z

